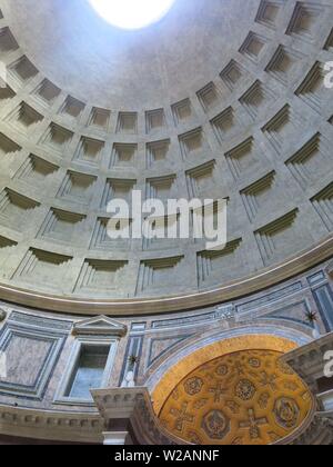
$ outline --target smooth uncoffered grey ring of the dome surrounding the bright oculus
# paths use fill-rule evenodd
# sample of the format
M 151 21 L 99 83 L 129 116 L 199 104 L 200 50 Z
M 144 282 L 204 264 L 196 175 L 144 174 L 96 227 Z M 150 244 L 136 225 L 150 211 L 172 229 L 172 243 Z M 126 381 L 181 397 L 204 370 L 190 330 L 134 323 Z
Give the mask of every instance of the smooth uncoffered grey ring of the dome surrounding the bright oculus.
M 195 96 L 228 64 L 256 3 L 178 0 L 160 22 L 138 31 L 108 24 L 89 0 L 57 8 L 52 0 L 19 0 L 14 8 L 8 1 L 3 11 L 23 52 L 64 93 L 114 112 L 169 113 L 170 105 Z M 33 34 L 26 24 L 33 24 Z

